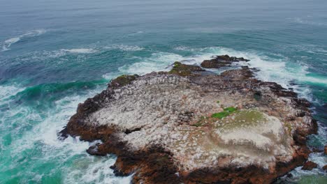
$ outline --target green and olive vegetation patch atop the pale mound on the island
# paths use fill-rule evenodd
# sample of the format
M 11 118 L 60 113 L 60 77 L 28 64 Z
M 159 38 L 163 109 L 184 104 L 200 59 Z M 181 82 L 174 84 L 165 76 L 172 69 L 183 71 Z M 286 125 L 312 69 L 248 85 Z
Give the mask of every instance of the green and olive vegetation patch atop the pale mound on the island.
M 231 130 L 233 128 L 255 127 L 260 123 L 266 122 L 267 119 L 262 112 L 249 109 L 237 111 L 233 116 L 228 116 L 217 123 L 216 128 L 222 130 Z

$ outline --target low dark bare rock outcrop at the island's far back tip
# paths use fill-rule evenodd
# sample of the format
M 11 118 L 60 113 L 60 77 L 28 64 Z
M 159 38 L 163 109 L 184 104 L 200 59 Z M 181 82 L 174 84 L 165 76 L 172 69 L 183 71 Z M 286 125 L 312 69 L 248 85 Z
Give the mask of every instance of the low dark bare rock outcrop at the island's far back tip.
M 221 68 L 224 66 L 231 66 L 233 62 L 239 61 L 249 61 L 248 59 L 244 59 L 242 57 L 234 57 L 228 55 L 216 56 L 214 59 L 205 60 L 201 63 L 203 68 Z

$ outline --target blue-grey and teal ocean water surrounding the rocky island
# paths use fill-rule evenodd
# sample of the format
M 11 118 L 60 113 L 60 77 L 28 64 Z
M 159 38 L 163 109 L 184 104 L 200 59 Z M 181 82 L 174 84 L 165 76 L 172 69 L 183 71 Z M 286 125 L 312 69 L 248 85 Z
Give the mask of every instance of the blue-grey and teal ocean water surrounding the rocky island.
M 256 77 L 312 102 L 327 144 L 326 0 L 0 0 L 0 183 L 129 183 L 90 144 L 59 132 L 78 103 L 113 77 L 198 64 L 212 55 L 251 59 Z M 319 167 L 277 183 L 327 183 Z

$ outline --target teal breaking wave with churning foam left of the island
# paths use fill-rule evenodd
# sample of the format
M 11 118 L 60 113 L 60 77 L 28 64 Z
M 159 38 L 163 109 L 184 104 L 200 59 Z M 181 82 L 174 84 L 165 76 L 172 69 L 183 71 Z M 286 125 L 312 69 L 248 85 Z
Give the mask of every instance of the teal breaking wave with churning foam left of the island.
M 57 138 L 57 132 L 75 114 L 78 103 L 101 92 L 105 84 L 103 79 L 28 88 L 1 86 L 0 91 L 8 91 L 4 95 L 1 93 L 1 104 L 7 103 L 8 108 L 0 109 L 0 130 L 3 132 L 0 172 L 11 177 L 1 180 L 10 183 L 12 178 L 17 181 L 20 178 L 18 183 L 47 183 L 48 179 L 58 178 L 64 183 L 130 183 L 131 176 L 117 177 L 110 169 L 115 156 L 95 157 L 86 153 L 94 143 L 80 141 L 78 137 L 68 137 L 64 141 Z M 31 99 L 36 104 L 16 103 Z M 52 105 L 38 105 L 45 103 Z M 18 127 L 17 122 L 20 123 Z M 9 139 L 11 136 L 13 138 Z M 5 167 L 8 161 L 10 167 Z M 10 168 L 20 170 L 13 172 Z M 26 173 L 31 175 L 26 176 Z

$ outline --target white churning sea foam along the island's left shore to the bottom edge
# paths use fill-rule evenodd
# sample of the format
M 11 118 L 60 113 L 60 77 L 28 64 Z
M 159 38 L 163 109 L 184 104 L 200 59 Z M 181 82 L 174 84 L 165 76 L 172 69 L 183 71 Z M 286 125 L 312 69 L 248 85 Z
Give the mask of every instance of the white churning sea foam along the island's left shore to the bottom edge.
M 55 101 L 53 108 L 45 108 L 43 112 L 38 112 L 33 107 L 17 106 L 8 109 L 8 112 L 1 118 L 1 122 L 3 121 L 0 123 L 1 130 L 3 130 L 3 123 L 7 128 L 14 126 L 17 122 L 20 122 L 20 128 L 28 124 L 33 126 L 31 130 L 20 130 L 20 128 L 13 130 L 15 136 L 21 132 L 21 137 L 13 139 L 10 145 L 6 146 L 6 149 L 10 149 L 10 157 L 15 158 L 11 167 L 20 167 L 20 162 L 17 160 L 25 160 L 25 155 L 22 153 L 38 150 L 42 156 L 34 161 L 35 164 L 56 162 L 54 169 L 63 171 L 61 175 L 64 183 L 130 183 L 131 176 L 116 177 L 109 168 L 115 163 L 115 157 L 109 155 L 108 157 L 95 157 L 86 153 L 86 149 L 94 143 L 80 141 L 78 137 L 68 137 L 64 141 L 57 138 L 57 132 L 62 130 L 68 119 L 75 113 L 78 103 L 94 96 L 102 89 L 103 86 L 84 95 L 66 96 Z M 29 167 L 24 172 L 34 173 L 33 168 Z M 42 178 L 43 175 L 36 176 L 32 178 L 32 182 L 40 181 Z

